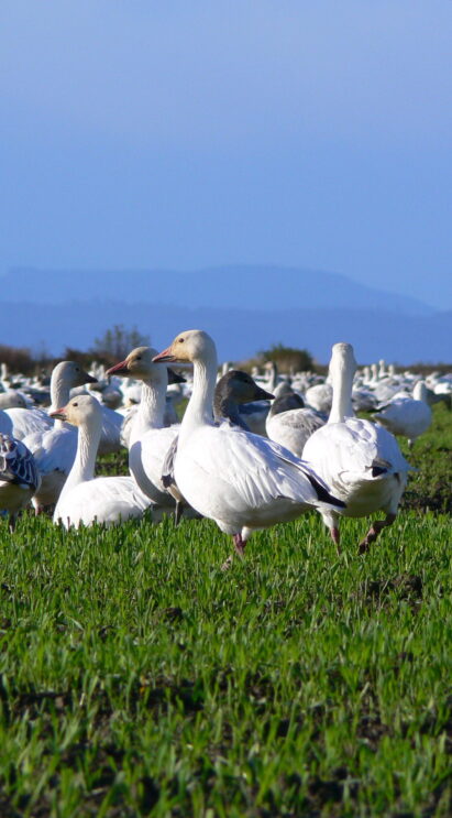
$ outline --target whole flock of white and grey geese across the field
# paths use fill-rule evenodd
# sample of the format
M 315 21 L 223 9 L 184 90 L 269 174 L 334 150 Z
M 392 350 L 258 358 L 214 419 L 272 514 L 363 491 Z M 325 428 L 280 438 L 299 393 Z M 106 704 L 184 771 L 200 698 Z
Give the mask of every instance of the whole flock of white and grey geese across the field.
M 151 508 L 154 522 L 214 520 L 243 557 L 254 531 L 312 508 L 338 548 L 341 517 L 381 511 L 359 545 L 365 552 L 396 519 L 407 483 L 395 435 L 412 445 L 431 404 L 451 406 L 452 374 L 420 380 L 384 362 L 357 372 L 350 343 L 333 346 L 327 379 L 279 378 L 274 364 L 264 378 L 223 370 L 218 380 L 216 345 L 199 329 L 159 353 L 139 347 L 107 372 L 62 361 L 49 395 L 21 377 L 11 384 L 3 367 L 0 510 L 10 525 L 31 502 L 66 528 L 119 524 Z M 179 423 L 175 404 L 185 397 Z M 47 410 L 38 406 L 46 399 Z M 124 446 L 130 475 L 95 477 L 98 455 Z

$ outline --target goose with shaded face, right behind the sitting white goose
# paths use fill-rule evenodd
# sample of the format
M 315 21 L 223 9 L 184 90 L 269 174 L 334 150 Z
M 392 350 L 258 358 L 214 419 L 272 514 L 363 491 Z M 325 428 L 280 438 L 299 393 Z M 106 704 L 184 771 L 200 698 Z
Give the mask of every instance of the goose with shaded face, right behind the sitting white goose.
M 59 361 L 51 378 L 51 412 L 68 403 L 71 389 L 93 382 L 96 378 L 76 361 Z M 38 513 L 45 506 L 55 505 L 58 500 L 75 460 L 77 429 L 56 419 L 52 428 L 26 435 L 24 444 L 33 454 L 42 478 L 40 489 L 33 498 L 33 505 Z

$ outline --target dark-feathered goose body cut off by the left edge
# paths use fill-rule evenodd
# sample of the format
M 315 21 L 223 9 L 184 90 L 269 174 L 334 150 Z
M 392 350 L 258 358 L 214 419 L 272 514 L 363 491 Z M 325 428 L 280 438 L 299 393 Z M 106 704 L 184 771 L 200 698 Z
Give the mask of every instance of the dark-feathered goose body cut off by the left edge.
M 0 509 L 10 515 L 10 527 L 40 486 L 33 455 L 21 440 L 0 434 Z

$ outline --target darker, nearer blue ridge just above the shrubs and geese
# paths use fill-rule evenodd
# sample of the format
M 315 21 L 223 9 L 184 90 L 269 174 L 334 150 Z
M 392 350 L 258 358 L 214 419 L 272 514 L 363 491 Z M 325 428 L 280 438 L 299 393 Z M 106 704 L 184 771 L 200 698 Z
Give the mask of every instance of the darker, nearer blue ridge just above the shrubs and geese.
M 416 316 L 377 308 L 271 312 L 117 301 L 37 307 L 3 302 L 0 343 L 32 350 L 45 346 L 53 355 L 63 356 L 66 347 L 88 349 L 114 324 L 136 326 L 161 349 L 184 329 L 206 329 L 217 341 L 220 360 L 241 361 L 282 341 L 304 347 L 327 363 L 332 345 L 349 341 L 360 363 L 384 358 L 403 366 L 444 362 L 452 369 L 452 312 Z

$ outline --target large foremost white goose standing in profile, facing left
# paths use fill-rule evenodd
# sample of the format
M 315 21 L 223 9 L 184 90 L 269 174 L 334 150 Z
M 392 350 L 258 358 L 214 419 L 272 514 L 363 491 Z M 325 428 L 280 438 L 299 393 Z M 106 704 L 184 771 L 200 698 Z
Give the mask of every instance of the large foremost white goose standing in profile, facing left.
M 175 478 L 192 508 L 233 536 L 239 555 L 243 556 L 253 530 L 295 520 L 312 506 L 343 505 L 287 449 L 230 424 L 214 425 L 217 350 L 207 332 L 181 332 L 154 360 L 194 363 L 194 388 L 180 425 Z

